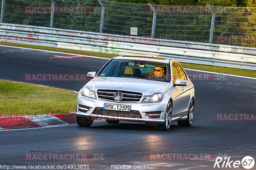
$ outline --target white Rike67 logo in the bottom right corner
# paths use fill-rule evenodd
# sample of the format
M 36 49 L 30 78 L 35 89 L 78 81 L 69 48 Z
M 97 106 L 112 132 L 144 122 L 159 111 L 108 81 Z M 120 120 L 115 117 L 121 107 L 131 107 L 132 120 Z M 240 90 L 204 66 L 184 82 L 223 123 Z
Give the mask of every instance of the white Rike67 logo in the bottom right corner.
M 217 157 L 214 163 L 214 168 L 238 168 L 243 166 L 245 169 L 251 169 L 254 166 L 254 159 L 251 156 L 245 156 L 242 161 L 240 160 L 230 160 L 230 157 Z

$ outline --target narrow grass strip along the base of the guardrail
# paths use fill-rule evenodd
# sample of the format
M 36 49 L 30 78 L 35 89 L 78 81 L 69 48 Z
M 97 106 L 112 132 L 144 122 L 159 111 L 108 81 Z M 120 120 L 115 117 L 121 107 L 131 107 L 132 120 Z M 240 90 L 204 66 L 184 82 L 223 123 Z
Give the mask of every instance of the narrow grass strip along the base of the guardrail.
M 112 58 L 112 57 L 116 56 L 116 54 L 98 53 L 98 52 L 72 50 L 72 49 L 65 49 L 65 48 L 45 47 L 45 46 L 34 46 L 34 45 L 18 44 L 18 43 L 0 42 L 0 44 L 8 45 L 8 46 L 20 46 L 20 47 L 27 47 L 27 48 L 42 49 L 42 50 L 58 51 L 58 52 L 65 52 L 65 53 L 91 55 L 91 56 L 98 56 L 98 57 L 105 57 L 105 58 Z M 205 71 L 212 71 L 212 72 L 217 72 L 217 73 L 256 77 L 256 71 L 254 71 L 254 70 L 245 70 L 245 69 L 239 69 L 239 68 L 228 68 L 228 67 L 218 67 L 218 66 L 207 66 L 207 65 L 191 64 L 191 63 L 181 63 L 181 65 L 184 68 L 191 68 L 191 69 L 196 69 L 196 70 L 205 70 Z

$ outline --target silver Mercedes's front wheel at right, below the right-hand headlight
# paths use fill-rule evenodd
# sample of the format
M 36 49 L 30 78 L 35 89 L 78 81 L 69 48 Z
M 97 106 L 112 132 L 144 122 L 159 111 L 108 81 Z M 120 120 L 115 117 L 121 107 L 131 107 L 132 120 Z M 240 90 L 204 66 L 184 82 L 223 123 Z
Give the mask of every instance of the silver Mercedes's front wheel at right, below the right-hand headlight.
M 171 121 L 172 121 L 172 103 L 171 101 L 169 101 L 165 111 L 164 123 L 158 124 L 157 126 L 154 126 L 154 128 L 155 130 L 158 130 L 158 131 L 168 131 L 171 128 Z

